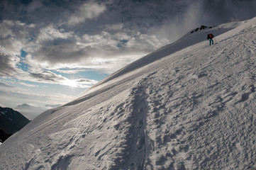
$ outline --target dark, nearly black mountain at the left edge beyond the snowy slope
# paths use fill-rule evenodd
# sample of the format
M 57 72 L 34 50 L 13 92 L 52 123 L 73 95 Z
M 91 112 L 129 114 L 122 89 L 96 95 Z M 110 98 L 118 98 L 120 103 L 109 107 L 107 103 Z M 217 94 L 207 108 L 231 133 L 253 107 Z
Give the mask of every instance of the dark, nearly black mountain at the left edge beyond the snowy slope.
M 18 132 L 28 123 L 30 123 L 30 120 L 18 111 L 14 111 L 12 108 L 0 107 L 0 130 L 4 130 L 7 135 Z M 4 134 L 4 132 L 1 134 Z

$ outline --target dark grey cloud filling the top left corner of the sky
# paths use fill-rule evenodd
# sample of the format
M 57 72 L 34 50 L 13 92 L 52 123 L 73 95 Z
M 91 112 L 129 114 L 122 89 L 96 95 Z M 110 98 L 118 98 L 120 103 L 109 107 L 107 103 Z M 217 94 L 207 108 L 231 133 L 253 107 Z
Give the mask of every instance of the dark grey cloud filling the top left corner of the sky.
M 59 14 L 69 9 L 69 1 L 2 0 L 1 9 L 1 20 L 19 20 L 24 23 L 52 23 L 60 18 Z

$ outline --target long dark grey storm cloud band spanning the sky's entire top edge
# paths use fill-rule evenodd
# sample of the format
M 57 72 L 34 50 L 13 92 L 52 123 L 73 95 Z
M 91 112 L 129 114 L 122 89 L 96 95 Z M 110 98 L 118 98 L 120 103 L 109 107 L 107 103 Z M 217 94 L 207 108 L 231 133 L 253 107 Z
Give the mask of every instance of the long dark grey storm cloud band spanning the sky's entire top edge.
M 81 8 L 88 2 L 99 4 L 101 8 L 106 7 L 106 11 L 101 18 L 98 18 L 99 23 L 95 21 L 85 21 L 78 28 L 91 30 L 91 28 L 102 28 L 104 24 L 113 24 L 116 22 L 124 23 L 129 28 L 145 29 L 161 24 L 166 19 L 182 16 L 187 12 L 189 6 L 200 3 L 201 18 L 206 23 L 220 24 L 230 20 L 244 20 L 255 16 L 254 0 L 212 0 L 212 1 L 192 1 L 192 0 L 141 0 L 141 1 L 69 1 L 69 0 L 30 0 L 30 1 L 1 1 L 1 20 L 19 20 L 24 23 L 59 23 L 66 20 L 72 15 L 80 16 L 79 10 L 87 13 L 89 8 Z M 92 5 L 93 6 L 93 5 Z M 94 8 L 99 9 L 99 7 Z M 103 10 L 104 11 L 104 10 Z M 192 13 L 193 14 L 193 13 Z M 88 15 L 94 14 L 89 13 Z M 201 20 L 199 18 L 199 21 Z M 211 19 L 209 19 L 211 18 Z M 209 19 L 209 20 L 208 20 Z M 76 22 L 76 21 L 74 21 Z M 85 27 L 84 27 L 85 26 Z M 81 30 L 82 31 L 82 30 Z

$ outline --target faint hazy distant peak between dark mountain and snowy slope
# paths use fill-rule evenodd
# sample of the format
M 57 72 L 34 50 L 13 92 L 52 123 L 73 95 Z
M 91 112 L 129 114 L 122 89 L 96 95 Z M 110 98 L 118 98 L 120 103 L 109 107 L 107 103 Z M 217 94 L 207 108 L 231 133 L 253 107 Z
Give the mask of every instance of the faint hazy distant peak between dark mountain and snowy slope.
M 47 110 L 46 108 L 33 107 L 26 103 L 16 106 L 15 109 L 21 112 L 26 116 L 26 118 L 30 120 L 33 120 L 36 116 L 40 115 L 40 113 L 43 113 L 45 110 Z

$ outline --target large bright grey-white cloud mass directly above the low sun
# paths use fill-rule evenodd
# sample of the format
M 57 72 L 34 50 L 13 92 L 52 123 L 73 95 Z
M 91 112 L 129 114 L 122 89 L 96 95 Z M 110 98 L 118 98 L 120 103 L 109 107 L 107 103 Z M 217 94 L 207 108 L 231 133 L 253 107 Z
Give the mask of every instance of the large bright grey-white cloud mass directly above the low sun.
M 121 24 L 117 24 L 114 29 L 118 30 L 116 29 L 118 27 L 121 27 Z M 104 62 L 101 62 L 100 65 L 94 65 L 94 61 L 97 59 L 108 60 L 108 67 L 111 67 L 111 62 L 114 62 L 113 59 L 120 61 L 128 55 L 137 56 L 129 57 L 129 60 L 127 60 L 129 62 L 126 62 L 128 64 L 168 42 L 169 40 L 164 37 L 142 34 L 133 30 L 126 30 L 125 33 L 121 30 L 115 33 L 103 30 L 97 35 L 84 34 L 79 37 L 72 32 L 62 32 L 57 28 L 48 26 L 40 30 L 40 34 L 35 40 L 36 47 L 33 43 L 26 47 L 26 51 L 31 54 L 31 57 L 26 57 L 26 63 L 32 67 L 31 69 L 34 67 L 47 69 L 63 67 L 98 68 Z M 130 60 L 131 58 L 133 60 Z M 117 69 L 120 69 L 120 67 L 112 70 Z

